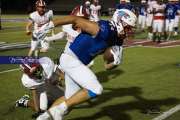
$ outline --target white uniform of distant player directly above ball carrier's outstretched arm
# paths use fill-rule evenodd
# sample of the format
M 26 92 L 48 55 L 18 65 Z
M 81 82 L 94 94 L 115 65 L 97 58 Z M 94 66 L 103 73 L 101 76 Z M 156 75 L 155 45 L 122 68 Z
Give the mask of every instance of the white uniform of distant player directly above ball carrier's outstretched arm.
M 101 5 L 95 6 L 94 4 L 91 4 L 90 10 L 91 10 L 90 20 L 95 22 L 99 21 L 99 13 L 101 10 Z

